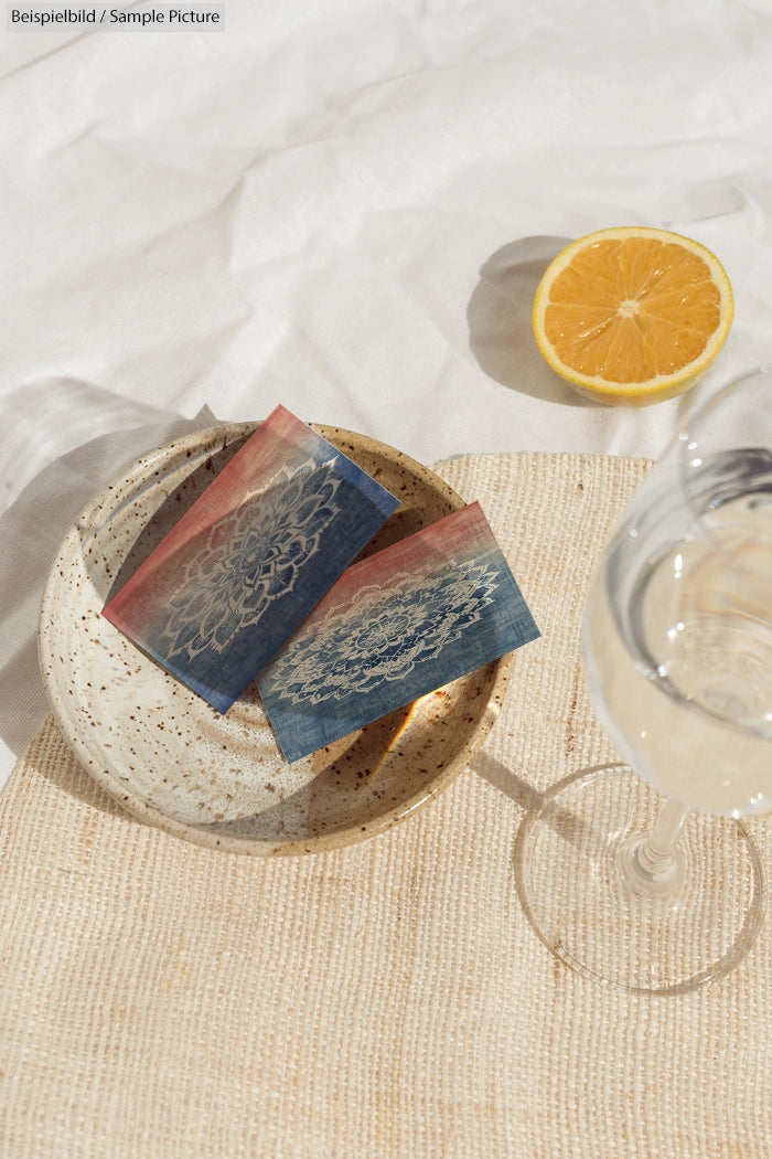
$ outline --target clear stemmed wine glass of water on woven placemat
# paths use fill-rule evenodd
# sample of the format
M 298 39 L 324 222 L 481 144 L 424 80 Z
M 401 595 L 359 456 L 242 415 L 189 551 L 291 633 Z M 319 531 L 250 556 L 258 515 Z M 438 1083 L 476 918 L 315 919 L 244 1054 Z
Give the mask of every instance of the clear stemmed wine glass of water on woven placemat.
M 623 512 L 583 622 L 626 764 L 556 785 L 519 834 L 521 901 L 564 962 L 682 993 L 751 948 L 772 809 L 772 373 L 697 409 Z M 752 826 L 751 826 L 752 828 Z

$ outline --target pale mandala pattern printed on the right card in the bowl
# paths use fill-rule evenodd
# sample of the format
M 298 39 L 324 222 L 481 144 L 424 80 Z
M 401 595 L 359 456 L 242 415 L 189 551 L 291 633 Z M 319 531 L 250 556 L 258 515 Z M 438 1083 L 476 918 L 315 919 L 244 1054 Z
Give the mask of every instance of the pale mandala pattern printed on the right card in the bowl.
M 287 646 L 273 691 L 318 705 L 402 680 L 476 624 L 498 586 L 494 569 L 471 563 L 365 586 Z

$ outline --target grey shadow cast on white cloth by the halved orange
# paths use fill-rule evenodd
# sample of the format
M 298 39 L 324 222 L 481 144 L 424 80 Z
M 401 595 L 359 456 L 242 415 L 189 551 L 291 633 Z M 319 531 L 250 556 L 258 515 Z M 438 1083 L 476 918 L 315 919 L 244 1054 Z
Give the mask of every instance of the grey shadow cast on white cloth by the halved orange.
M 466 307 L 469 345 L 488 378 L 508 389 L 572 407 L 591 407 L 589 399 L 550 370 L 531 328 L 534 297 L 542 275 L 569 241 L 520 238 L 487 258 Z

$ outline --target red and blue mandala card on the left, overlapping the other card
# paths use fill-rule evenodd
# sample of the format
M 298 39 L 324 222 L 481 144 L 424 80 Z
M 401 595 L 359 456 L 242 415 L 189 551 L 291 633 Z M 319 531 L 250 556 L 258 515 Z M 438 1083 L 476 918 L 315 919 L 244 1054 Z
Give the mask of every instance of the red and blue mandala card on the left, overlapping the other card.
M 277 407 L 103 615 L 225 713 L 398 505 Z

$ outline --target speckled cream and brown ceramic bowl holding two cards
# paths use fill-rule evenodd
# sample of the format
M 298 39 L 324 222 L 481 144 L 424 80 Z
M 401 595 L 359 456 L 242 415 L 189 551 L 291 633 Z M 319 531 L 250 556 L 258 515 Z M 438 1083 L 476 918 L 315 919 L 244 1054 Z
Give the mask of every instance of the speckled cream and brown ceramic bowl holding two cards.
M 311 853 L 382 832 L 446 788 L 495 720 L 509 657 L 288 765 L 252 686 L 221 716 L 139 651 L 100 614 L 104 603 L 255 427 L 169 443 L 82 512 L 45 588 L 41 666 L 67 742 L 131 812 L 213 848 Z M 398 451 L 316 430 L 402 500 L 368 553 L 463 505 Z

